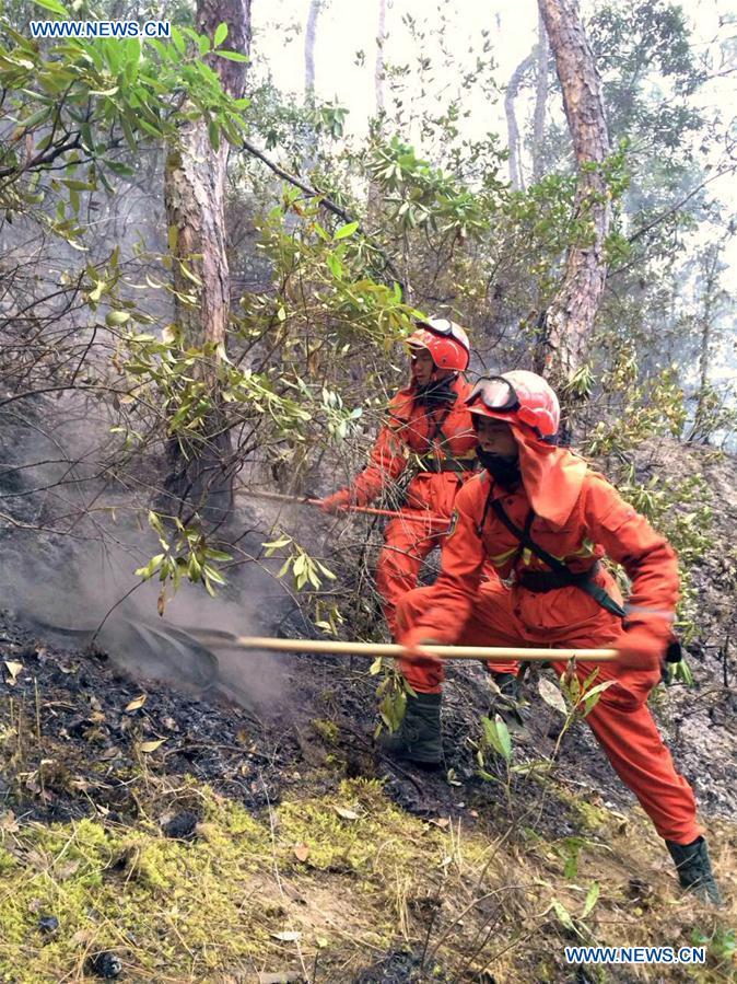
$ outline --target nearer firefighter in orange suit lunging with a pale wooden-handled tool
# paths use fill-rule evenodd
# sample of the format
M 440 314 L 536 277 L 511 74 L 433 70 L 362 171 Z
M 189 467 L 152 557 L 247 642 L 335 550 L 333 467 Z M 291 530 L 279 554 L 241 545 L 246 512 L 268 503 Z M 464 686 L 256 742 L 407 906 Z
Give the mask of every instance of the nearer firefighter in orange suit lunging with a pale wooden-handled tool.
M 557 447 L 560 409 L 541 377 L 517 370 L 482 379 L 468 409 L 483 471 L 456 498 L 440 577 L 399 603 L 399 640 L 408 655 L 400 665 L 417 696 L 385 746 L 440 761 L 443 663 L 428 659 L 422 644 L 615 648 L 616 661 L 575 669 L 582 685 L 594 668 L 596 683 L 612 681 L 586 721 L 665 838 L 681 884 L 718 904 L 693 791 L 647 706 L 672 640 L 674 551 L 603 475 Z M 601 565 L 605 555 L 631 580 L 625 607 Z M 483 577 L 489 562 L 499 574 L 491 580 Z M 566 668 L 553 652 L 551 663 L 559 674 Z M 517 667 L 489 669 L 514 694 Z

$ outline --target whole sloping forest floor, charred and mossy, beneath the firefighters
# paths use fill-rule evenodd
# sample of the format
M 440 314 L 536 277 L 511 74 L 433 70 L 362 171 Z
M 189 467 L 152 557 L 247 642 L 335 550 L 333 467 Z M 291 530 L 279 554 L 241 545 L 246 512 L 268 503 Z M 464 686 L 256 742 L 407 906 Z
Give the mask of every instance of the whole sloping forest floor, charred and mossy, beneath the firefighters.
M 236 673 L 232 656 L 202 690 L 185 667 L 176 682 L 151 679 L 143 652 L 131 661 L 115 643 L 81 648 L 7 612 L 2 980 L 93 980 L 116 961 L 121 980 L 161 984 L 729 980 L 734 493 L 718 467 L 724 511 L 694 574 L 704 620 L 689 649 L 695 685 L 659 690 L 653 706 L 699 792 L 725 913 L 680 896 L 662 842 L 585 722 L 550 762 L 562 718 L 537 675 L 524 687 L 526 740 L 508 769 L 487 752 L 483 779 L 486 674 L 452 669 L 445 763 L 426 773 L 377 752 L 366 662 L 262 658 Z M 282 616 L 283 634 L 309 630 Z M 710 957 L 698 972 L 595 973 L 568 968 L 562 953 L 576 941 L 702 940 Z

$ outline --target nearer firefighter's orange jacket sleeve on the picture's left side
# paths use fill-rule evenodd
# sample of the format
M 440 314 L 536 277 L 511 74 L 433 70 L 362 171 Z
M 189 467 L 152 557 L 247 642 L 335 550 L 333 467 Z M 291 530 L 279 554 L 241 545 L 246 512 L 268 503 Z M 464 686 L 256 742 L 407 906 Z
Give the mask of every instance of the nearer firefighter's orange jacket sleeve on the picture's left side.
M 426 637 L 452 646 L 470 615 L 487 559 L 478 533 L 477 513 L 486 501 L 484 495 L 479 507 L 479 478 L 467 482 L 456 497 L 455 528 L 443 546 L 443 568 L 428 592 L 426 609 L 413 626 L 414 640 Z

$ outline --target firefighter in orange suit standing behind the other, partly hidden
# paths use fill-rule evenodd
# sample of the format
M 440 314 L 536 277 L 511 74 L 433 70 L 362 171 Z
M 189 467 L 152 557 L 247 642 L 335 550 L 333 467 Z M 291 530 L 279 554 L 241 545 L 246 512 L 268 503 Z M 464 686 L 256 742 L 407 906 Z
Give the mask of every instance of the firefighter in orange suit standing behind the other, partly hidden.
M 376 587 L 393 635 L 397 601 L 417 586 L 428 554 L 442 546 L 456 493 L 478 467 L 466 407 L 471 387 L 463 377 L 469 359 L 466 332 L 447 319 L 431 317 L 417 323 L 407 345 L 410 385 L 391 400 L 368 466 L 348 488 L 321 501 L 326 512 L 365 506 L 396 483 L 408 465 L 417 466 L 405 500 L 413 518 L 387 524 L 376 568 Z

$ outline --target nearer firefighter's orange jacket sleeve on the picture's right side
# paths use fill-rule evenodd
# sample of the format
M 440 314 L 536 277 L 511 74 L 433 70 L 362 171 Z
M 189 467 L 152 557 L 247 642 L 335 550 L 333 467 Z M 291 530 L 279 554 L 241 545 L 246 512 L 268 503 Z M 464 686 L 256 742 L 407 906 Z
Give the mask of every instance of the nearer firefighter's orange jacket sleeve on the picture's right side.
M 668 639 L 679 593 L 675 551 L 601 475 L 589 473 L 583 506 L 590 540 L 622 565 L 632 582 L 627 623 L 646 625 Z

